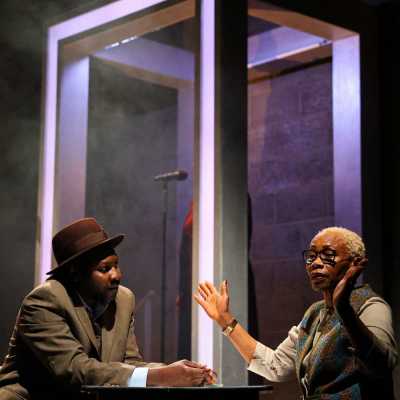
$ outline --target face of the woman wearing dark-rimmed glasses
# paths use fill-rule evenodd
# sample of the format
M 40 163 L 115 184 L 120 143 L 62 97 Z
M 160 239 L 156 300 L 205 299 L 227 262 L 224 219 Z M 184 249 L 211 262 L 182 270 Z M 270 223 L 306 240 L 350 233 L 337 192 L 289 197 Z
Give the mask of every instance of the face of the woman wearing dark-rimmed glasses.
M 315 291 L 333 290 L 352 259 L 345 240 L 338 233 L 325 232 L 314 237 L 310 250 L 316 256 L 313 260 L 310 258 L 312 262 L 306 263 L 311 287 Z

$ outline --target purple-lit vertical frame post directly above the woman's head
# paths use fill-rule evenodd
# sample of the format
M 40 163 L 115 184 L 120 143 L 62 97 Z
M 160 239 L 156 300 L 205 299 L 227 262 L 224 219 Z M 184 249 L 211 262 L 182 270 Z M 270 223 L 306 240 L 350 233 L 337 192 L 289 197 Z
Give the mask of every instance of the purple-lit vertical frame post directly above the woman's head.
M 332 45 L 335 224 L 362 234 L 360 37 Z

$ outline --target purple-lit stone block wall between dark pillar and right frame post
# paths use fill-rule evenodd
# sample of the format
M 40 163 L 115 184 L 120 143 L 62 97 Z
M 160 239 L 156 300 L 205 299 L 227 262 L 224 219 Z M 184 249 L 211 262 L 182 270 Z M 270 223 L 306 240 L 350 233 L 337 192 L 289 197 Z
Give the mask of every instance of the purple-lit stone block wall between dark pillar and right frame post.
M 274 348 L 319 298 L 301 252 L 334 223 L 331 64 L 250 84 L 248 99 L 257 336 Z M 295 382 L 274 386 L 296 398 Z

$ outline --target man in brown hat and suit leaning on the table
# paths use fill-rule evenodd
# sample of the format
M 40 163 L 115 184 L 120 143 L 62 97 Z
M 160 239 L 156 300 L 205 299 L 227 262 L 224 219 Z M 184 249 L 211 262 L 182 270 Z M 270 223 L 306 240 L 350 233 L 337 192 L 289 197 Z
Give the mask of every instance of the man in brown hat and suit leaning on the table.
M 196 386 L 203 365 L 142 360 L 134 334 L 133 293 L 120 285 L 115 247 L 94 218 L 53 238 L 57 265 L 22 302 L 0 370 L 0 400 L 68 398 L 82 385 Z M 55 394 L 56 393 L 56 394 Z

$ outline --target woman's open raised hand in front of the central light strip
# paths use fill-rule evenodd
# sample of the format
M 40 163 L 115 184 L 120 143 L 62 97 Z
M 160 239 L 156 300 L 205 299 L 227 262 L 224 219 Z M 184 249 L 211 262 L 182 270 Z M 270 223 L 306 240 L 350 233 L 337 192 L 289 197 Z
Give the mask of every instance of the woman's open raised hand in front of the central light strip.
M 201 282 L 194 298 L 207 315 L 221 327 L 224 328 L 231 322 L 232 315 L 229 312 L 229 291 L 226 280 L 221 283 L 219 291 L 211 282 Z

